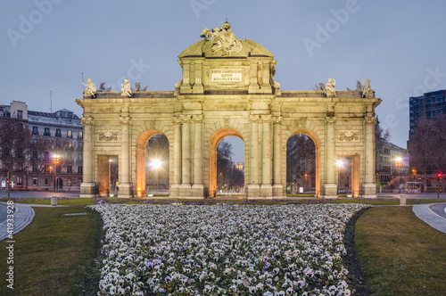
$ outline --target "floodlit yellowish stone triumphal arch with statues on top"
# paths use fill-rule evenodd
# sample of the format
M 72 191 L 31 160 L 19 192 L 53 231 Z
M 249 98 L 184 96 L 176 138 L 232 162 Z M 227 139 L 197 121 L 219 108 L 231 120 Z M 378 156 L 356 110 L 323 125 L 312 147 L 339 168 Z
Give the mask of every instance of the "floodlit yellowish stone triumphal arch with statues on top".
M 119 161 L 120 197 L 145 193 L 145 144 L 169 141 L 170 197 L 215 196 L 217 145 L 225 136 L 244 141 L 245 196 L 281 198 L 286 189 L 286 142 L 310 136 L 316 147 L 316 196 L 336 197 L 336 160 L 351 158 L 353 196 L 376 197 L 375 98 L 369 80 L 335 90 L 335 79 L 312 91 L 282 91 L 276 60 L 225 22 L 202 31 L 202 41 L 180 53 L 175 91 L 145 91 L 128 80 L 121 92 L 87 83 L 83 107 L 81 196 L 107 192 L 111 157 Z

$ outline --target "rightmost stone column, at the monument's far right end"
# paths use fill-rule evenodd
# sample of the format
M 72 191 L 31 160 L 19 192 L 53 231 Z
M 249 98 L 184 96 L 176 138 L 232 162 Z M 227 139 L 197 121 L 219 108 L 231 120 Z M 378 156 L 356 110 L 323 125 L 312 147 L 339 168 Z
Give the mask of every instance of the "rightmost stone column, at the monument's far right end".
M 364 118 L 364 183 L 361 197 L 376 198 L 375 184 L 375 125 L 376 118 Z

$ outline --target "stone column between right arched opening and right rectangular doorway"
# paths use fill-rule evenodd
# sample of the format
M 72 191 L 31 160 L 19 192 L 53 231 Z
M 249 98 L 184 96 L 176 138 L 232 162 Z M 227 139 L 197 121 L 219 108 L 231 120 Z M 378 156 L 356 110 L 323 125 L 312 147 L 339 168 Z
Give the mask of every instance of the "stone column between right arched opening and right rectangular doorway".
M 326 117 L 326 183 L 324 184 L 324 197 L 337 198 L 337 185 L 335 184 L 335 116 Z

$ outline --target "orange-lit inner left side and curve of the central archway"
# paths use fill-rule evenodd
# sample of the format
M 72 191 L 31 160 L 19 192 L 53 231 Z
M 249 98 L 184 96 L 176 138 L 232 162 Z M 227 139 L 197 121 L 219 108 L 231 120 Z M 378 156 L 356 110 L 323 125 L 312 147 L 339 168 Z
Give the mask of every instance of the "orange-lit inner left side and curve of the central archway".
M 217 147 L 226 136 L 236 136 L 244 141 L 242 135 L 232 128 L 221 128 L 209 140 L 209 195 L 217 196 Z

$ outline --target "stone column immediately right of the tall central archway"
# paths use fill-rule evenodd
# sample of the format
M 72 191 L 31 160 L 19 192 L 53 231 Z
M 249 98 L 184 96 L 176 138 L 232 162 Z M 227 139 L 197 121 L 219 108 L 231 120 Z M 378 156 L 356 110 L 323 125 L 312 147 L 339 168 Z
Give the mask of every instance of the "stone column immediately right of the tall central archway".
M 250 160 L 249 160 L 249 184 L 248 198 L 260 198 L 259 179 L 259 121 L 260 115 L 252 114 L 249 117 L 251 126 L 250 135 Z

